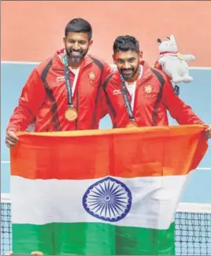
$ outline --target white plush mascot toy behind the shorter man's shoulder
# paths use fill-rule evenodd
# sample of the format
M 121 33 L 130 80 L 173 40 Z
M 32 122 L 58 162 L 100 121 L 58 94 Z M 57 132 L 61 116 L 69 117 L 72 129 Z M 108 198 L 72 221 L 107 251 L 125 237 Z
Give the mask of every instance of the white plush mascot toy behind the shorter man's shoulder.
M 171 35 L 167 39 L 166 41 L 157 40 L 160 52 L 158 63 L 161 65 L 161 69 L 176 85 L 181 82 L 193 81 L 193 77 L 189 75 L 187 61 L 193 61 L 194 55 L 182 55 L 178 51 L 174 36 Z

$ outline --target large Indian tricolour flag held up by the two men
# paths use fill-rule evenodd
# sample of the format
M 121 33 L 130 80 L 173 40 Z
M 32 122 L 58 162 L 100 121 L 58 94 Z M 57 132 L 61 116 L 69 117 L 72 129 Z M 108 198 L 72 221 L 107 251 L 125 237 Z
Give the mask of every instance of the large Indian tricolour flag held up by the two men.
M 20 133 L 13 253 L 175 254 L 174 214 L 205 126 Z

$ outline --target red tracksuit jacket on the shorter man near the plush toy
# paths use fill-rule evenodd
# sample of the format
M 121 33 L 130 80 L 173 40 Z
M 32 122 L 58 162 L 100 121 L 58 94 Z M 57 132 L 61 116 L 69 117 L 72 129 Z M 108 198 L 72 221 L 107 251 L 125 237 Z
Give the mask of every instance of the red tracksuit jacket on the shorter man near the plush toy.
M 128 125 L 129 116 L 120 90 L 120 73 L 115 71 L 103 85 L 114 128 Z M 128 97 L 130 94 L 128 92 Z M 168 126 L 167 110 L 180 125 L 203 124 L 202 120 L 173 92 L 169 78 L 161 70 L 143 62 L 143 75 L 135 89 L 134 115 L 138 126 Z

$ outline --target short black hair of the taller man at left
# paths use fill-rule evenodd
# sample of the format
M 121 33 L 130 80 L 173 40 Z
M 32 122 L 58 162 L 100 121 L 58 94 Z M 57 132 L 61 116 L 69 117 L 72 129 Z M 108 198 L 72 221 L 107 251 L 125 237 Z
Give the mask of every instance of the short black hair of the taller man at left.
M 69 21 L 65 27 L 65 36 L 68 36 L 68 32 L 87 32 L 89 40 L 91 40 L 92 37 L 91 24 L 82 18 L 76 18 Z

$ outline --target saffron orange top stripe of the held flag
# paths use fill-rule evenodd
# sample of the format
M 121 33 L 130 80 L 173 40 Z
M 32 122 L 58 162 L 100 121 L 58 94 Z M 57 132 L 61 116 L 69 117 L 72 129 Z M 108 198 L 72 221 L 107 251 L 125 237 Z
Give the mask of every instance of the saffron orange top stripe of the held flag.
M 207 149 L 204 126 L 135 129 L 73 132 L 75 137 L 24 133 L 11 149 L 11 174 L 26 179 L 187 175 Z

